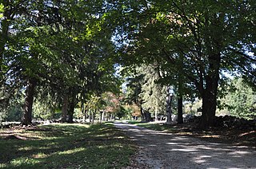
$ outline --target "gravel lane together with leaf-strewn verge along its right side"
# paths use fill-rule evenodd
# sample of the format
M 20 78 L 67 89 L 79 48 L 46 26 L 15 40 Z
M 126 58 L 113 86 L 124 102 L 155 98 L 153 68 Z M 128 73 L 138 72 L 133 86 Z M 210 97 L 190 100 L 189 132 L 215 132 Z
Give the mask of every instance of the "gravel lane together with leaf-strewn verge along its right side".
M 126 168 L 256 168 L 255 131 L 141 125 L 115 123 L 138 145 Z

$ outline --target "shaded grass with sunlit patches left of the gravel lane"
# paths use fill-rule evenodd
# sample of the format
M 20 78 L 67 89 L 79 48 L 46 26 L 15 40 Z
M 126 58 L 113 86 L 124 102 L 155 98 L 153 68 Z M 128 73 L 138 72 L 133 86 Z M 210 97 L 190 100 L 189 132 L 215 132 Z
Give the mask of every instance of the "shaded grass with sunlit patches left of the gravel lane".
M 0 130 L 1 168 L 121 168 L 135 146 L 112 124 Z

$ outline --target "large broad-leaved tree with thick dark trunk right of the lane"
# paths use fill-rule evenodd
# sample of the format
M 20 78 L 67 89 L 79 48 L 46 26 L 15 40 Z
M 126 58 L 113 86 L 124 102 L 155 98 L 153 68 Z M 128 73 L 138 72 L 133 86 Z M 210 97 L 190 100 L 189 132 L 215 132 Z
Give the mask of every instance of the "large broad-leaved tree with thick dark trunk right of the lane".
M 160 61 L 174 68 L 182 67 L 186 81 L 202 97 L 200 126 L 213 125 L 222 71 L 254 72 L 255 57 L 246 54 L 254 52 L 254 45 L 250 45 L 255 44 L 254 22 L 250 22 L 255 14 L 254 4 L 191 0 L 150 1 L 139 5 L 142 9 L 139 12 L 137 8 L 124 12 L 131 16 L 138 12 L 130 25 L 125 25 L 136 31 L 126 32 L 130 44 L 124 45 L 124 52 L 140 58 L 135 61 Z M 134 26 L 133 22 L 137 24 Z M 246 29 L 242 29 L 244 26 Z

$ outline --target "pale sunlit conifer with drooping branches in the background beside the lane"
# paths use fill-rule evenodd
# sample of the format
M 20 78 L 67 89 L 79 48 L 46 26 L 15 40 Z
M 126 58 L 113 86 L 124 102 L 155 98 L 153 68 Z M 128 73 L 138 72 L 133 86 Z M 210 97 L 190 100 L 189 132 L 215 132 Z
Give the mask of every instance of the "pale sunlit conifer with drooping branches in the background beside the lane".
M 166 86 L 158 83 L 158 66 L 140 65 L 135 69 L 134 73 L 126 74 L 126 100 L 141 108 L 142 120 L 146 120 L 145 113 L 148 112 L 154 114 L 155 120 L 158 120 L 158 114 L 166 112 Z

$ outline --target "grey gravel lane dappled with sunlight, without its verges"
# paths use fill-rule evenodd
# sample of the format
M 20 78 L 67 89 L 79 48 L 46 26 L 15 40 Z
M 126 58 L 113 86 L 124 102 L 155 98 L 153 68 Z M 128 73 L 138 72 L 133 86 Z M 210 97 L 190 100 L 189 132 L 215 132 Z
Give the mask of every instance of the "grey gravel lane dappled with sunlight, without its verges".
M 115 123 L 138 144 L 138 168 L 254 168 L 250 147 L 208 143 L 189 136 L 153 131 L 134 124 Z

